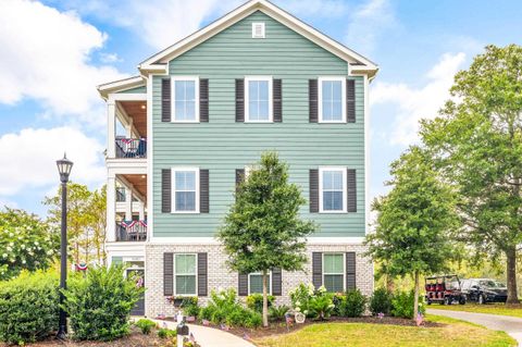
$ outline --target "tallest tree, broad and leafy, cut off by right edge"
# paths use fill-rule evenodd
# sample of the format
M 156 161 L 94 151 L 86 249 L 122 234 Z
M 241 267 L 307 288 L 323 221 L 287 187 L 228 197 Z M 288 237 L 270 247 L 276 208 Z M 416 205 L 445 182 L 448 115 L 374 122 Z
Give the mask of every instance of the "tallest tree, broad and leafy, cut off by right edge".
M 508 302 L 518 302 L 522 241 L 522 47 L 487 46 L 459 72 L 440 116 L 421 136 L 438 170 L 462 197 L 456 234 L 478 256 L 506 258 Z

